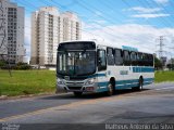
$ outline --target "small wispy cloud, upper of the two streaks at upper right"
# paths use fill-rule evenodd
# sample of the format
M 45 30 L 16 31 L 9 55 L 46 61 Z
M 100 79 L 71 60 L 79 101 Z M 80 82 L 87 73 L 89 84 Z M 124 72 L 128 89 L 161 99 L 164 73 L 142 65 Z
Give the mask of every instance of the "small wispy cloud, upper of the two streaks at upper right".
M 138 13 L 154 13 L 161 10 L 162 9 L 160 8 L 142 8 L 142 6 L 134 6 L 132 9 L 128 9 L 128 11 L 137 11 Z

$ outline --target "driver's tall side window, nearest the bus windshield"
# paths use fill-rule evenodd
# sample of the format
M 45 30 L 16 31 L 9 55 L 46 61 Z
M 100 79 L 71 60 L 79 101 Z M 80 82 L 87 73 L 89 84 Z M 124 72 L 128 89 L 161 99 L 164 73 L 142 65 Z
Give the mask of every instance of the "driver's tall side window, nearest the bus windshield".
M 105 51 L 98 50 L 98 70 L 105 70 L 107 69 L 107 58 L 105 58 Z

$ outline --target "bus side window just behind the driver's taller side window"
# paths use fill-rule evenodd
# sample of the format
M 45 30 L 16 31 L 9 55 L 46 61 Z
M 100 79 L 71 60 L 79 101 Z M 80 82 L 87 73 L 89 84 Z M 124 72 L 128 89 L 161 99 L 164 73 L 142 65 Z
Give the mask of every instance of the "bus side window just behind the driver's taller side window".
M 112 48 L 107 49 L 108 65 L 114 65 L 114 50 Z

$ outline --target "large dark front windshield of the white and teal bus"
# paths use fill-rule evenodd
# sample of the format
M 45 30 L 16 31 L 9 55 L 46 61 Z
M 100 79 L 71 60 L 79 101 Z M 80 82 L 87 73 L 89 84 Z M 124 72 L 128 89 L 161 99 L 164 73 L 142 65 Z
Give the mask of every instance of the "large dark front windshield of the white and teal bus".
M 95 51 L 58 52 L 58 74 L 64 76 L 86 76 L 96 72 Z

